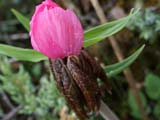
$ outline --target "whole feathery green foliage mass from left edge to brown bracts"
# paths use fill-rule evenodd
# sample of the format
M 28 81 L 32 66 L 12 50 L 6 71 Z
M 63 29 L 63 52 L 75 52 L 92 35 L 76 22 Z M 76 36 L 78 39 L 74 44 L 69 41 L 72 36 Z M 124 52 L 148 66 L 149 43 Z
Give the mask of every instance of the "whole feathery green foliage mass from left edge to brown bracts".
M 0 58 L 0 88 L 7 92 L 16 104 L 22 106 L 20 114 L 35 114 L 38 120 L 58 120 L 56 116 L 66 104 L 53 78 L 50 79 L 52 80 L 49 81 L 47 76 L 43 76 L 37 88 L 22 65 L 15 72 L 7 58 Z M 53 112 L 50 113 L 50 110 Z

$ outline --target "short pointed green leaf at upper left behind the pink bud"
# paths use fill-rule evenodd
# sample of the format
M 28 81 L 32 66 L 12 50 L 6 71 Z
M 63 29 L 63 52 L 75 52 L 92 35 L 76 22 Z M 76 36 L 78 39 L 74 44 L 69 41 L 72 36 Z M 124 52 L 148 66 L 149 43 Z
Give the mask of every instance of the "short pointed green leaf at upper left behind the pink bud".
M 29 28 L 29 19 L 27 19 L 26 17 L 24 17 L 21 13 L 19 13 L 15 9 L 11 9 L 11 11 L 16 16 L 16 18 L 19 20 L 19 22 L 26 28 L 26 30 L 29 31 L 29 29 L 30 29 Z

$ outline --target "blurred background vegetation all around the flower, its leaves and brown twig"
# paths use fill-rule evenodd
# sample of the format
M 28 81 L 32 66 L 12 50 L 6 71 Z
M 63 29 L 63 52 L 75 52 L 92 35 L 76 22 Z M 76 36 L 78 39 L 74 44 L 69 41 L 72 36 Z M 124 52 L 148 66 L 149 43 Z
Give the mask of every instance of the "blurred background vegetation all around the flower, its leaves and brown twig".
M 90 0 L 56 0 L 74 9 L 85 29 L 101 24 Z M 11 8 L 30 18 L 34 6 L 41 0 L 0 0 L 0 43 L 31 48 L 28 32 L 17 21 Z M 131 8 L 141 11 L 127 27 L 115 35 L 125 57 L 142 44 L 143 53 L 132 64 L 131 71 L 139 90 L 145 112 L 150 119 L 160 119 L 160 2 L 159 0 L 99 0 L 108 21 L 126 16 Z M 88 50 L 102 65 L 117 62 L 108 40 Z M 113 85 L 111 96 L 103 98 L 122 120 L 142 120 L 135 98 L 123 74 L 109 79 Z M 10 117 L 11 116 L 11 117 Z M 8 117 L 8 118 L 7 118 Z M 6 119 L 4 119 L 6 118 Z M 0 56 L 0 119 L 2 120 L 74 120 L 75 114 L 67 107 L 57 91 L 48 62 L 22 62 Z M 103 120 L 93 115 L 93 120 Z

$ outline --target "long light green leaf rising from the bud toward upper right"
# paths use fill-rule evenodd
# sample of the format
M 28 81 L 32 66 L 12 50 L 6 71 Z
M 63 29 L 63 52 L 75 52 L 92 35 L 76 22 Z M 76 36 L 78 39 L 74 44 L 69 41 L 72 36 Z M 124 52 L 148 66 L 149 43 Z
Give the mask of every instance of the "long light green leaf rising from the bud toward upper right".
M 128 21 L 138 13 L 138 11 L 138 9 L 134 12 L 131 11 L 131 14 L 127 17 L 124 17 L 120 20 L 115 20 L 113 22 L 108 22 L 87 30 L 84 36 L 84 47 L 91 46 L 97 42 L 100 42 L 106 37 L 119 32 L 128 24 Z

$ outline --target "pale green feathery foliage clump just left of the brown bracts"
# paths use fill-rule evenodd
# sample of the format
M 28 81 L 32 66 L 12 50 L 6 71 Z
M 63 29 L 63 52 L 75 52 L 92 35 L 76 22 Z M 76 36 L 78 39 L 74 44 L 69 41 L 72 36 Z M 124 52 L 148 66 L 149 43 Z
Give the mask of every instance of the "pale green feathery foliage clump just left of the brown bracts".
M 48 79 L 44 76 L 40 81 L 40 89 L 37 94 L 37 102 L 41 108 L 39 110 L 40 114 L 44 114 L 44 112 L 47 114 L 47 109 L 55 106 L 54 112 L 58 113 L 62 107 L 65 106 L 65 101 L 62 97 L 60 97 L 60 94 L 55 86 L 56 83 L 53 81 L 53 78 L 51 79 L 51 81 L 48 81 Z

